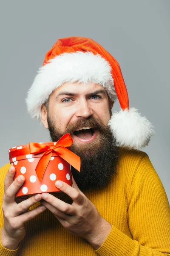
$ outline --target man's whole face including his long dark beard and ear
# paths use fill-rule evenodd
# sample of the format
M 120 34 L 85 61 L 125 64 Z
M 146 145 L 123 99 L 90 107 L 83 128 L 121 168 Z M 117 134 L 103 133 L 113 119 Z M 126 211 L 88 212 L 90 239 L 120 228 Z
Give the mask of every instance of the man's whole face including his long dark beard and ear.
M 108 185 L 115 171 L 117 147 L 108 127 L 112 106 L 105 89 L 92 82 L 65 83 L 51 94 L 48 108 L 42 106 L 42 122 L 52 141 L 65 133 L 70 133 L 74 140 L 71 150 L 81 158 L 81 172 L 72 173 L 82 190 Z M 99 165 L 105 166 L 107 175 L 104 169 L 99 172 Z M 104 184 L 100 184 L 101 180 Z

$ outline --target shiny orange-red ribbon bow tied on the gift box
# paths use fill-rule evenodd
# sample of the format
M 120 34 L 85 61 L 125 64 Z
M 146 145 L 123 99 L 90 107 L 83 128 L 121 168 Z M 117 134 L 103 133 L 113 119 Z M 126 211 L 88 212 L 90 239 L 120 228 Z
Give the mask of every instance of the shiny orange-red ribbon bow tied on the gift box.
M 70 163 L 75 169 L 80 172 L 80 157 L 71 152 L 67 147 L 73 144 L 73 139 L 70 134 L 63 135 L 54 146 L 47 146 L 39 143 L 29 143 L 31 154 L 42 154 L 37 167 L 35 169 L 38 179 L 42 180 L 45 169 L 48 166 L 52 152 L 55 151 L 59 157 L 62 157 L 65 161 Z

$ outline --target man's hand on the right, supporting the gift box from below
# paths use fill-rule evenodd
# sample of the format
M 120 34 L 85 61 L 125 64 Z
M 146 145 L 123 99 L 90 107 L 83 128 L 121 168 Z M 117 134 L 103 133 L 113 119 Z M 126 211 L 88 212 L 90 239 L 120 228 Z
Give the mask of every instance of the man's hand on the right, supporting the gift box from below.
M 61 182 L 55 185 L 73 199 L 67 204 L 49 193 L 42 193 L 42 204 L 59 220 L 63 227 L 74 235 L 85 238 L 95 249 L 98 249 L 111 231 L 111 224 L 103 219 L 94 204 L 79 190 L 73 178 L 73 186 Z

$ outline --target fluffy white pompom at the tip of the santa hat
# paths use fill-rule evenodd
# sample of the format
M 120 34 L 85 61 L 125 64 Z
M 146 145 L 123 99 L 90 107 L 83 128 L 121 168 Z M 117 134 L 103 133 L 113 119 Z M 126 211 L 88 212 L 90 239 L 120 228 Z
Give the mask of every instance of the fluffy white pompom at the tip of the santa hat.
M 117 144 L 127 148 L 142 148 L 148 145 L 150 137 L 155 134 L 152 124 L 136 108 L 113 113 L 108 125 Z

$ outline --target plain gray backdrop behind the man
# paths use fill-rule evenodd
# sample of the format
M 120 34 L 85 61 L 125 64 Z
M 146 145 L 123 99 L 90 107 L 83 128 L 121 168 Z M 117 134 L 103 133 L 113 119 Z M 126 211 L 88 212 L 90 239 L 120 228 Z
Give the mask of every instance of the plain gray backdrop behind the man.
M 6 0 L 0 2 L 0 31 L 0 166 L 8 163 L 9 148 L 50 140 L 25 104 L 45 53 L 58 38 L 90 37 L 119 62 L 130 107 L 155 126 L 142 150 L 170 201 L 170 0 Z

